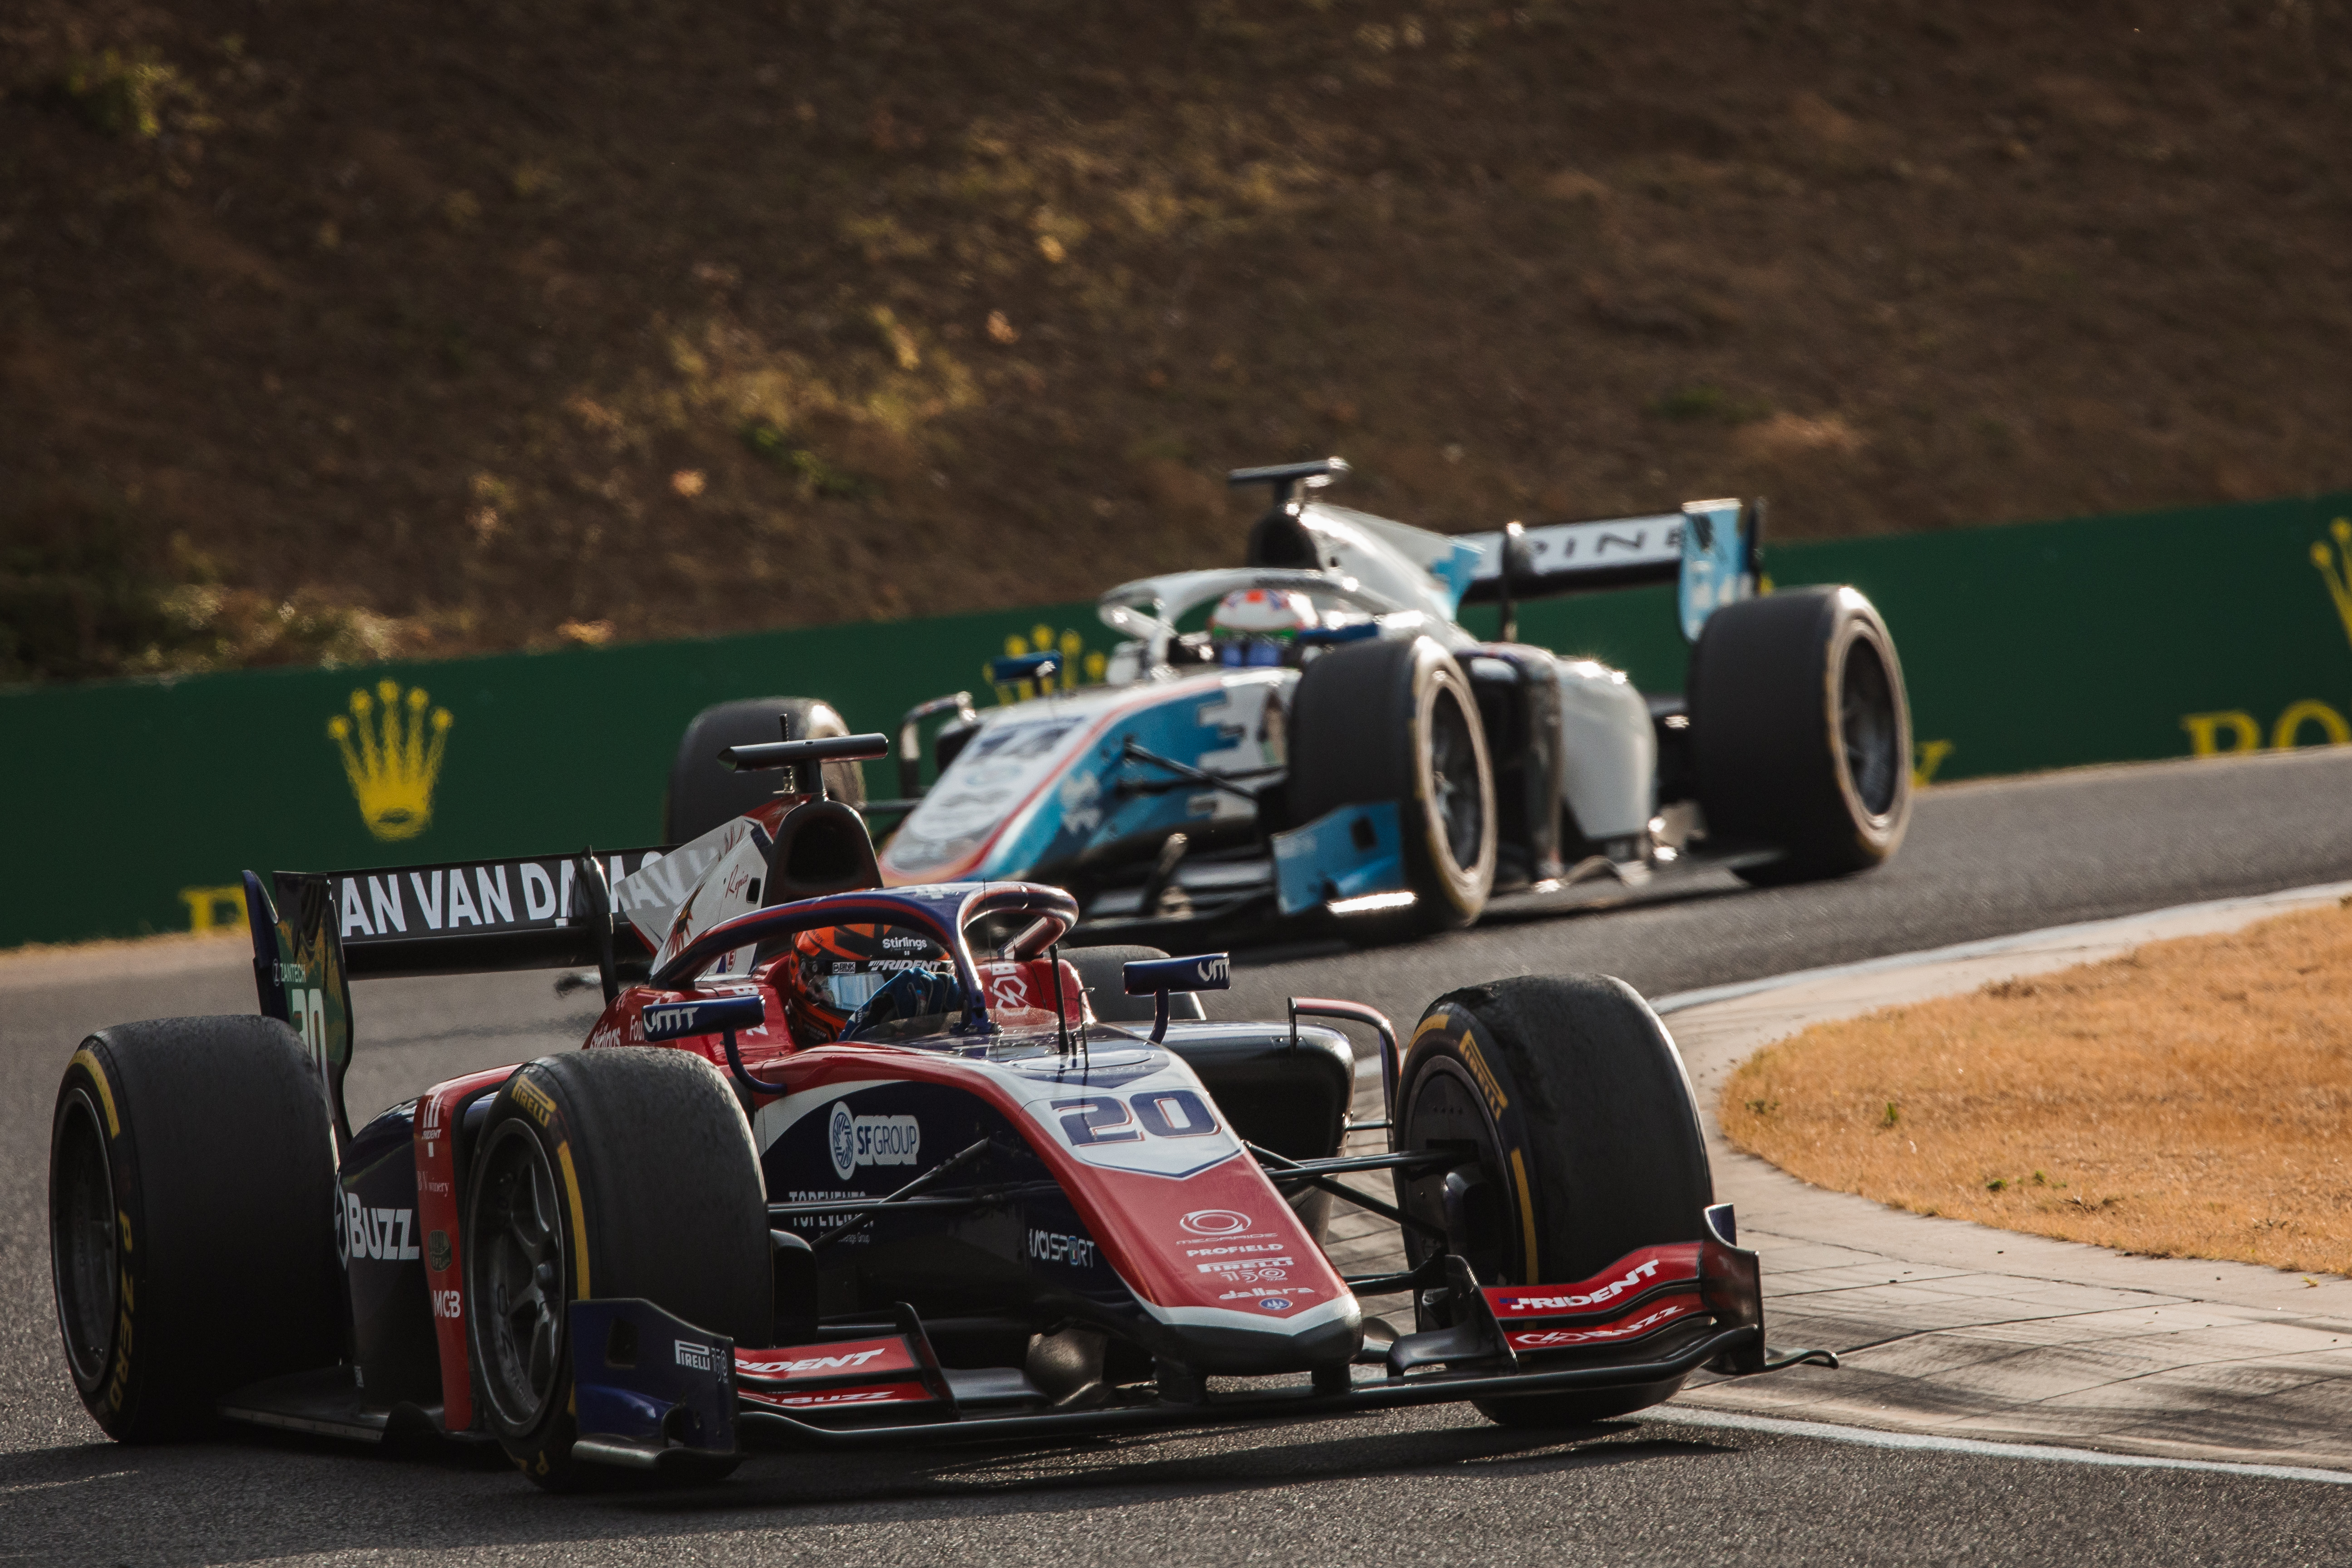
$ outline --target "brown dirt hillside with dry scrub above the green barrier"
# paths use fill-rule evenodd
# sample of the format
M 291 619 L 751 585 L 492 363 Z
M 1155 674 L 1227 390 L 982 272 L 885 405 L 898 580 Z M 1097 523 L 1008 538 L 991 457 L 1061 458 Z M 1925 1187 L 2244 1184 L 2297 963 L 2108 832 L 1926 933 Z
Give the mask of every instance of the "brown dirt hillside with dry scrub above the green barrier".
M 2352 480 L 2343 0 L 9 0 L 0 679 L 1094 592 L 1230 463 Z

